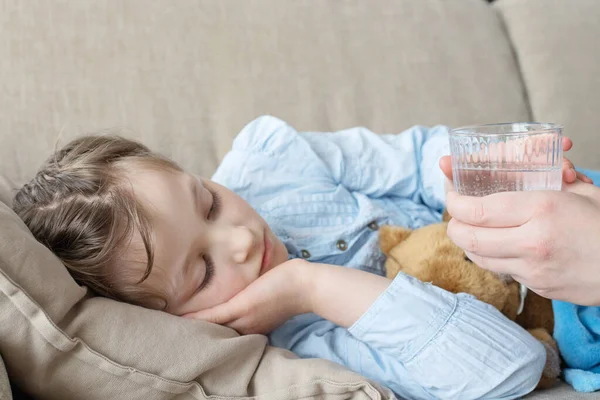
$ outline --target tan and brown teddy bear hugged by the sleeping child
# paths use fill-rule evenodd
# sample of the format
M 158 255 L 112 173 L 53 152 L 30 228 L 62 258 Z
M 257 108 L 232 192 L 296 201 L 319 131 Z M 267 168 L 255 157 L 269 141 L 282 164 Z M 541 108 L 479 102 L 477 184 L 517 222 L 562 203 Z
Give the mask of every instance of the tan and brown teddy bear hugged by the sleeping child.
M 410 230 L 397 226 L 379 229 L 379 245 L 386 255 L 386 274 L 411 275 L 452 293 L 468 293 L 491 304 L 516 321 L 546 349 L 546 365 L 537 385 L 550 388 L 560 375 L 560 356 L 552 338 L 552 303 L 510 276 L 479 268 L 446 234 L 450 216 L 444 212 L 441 223 Z

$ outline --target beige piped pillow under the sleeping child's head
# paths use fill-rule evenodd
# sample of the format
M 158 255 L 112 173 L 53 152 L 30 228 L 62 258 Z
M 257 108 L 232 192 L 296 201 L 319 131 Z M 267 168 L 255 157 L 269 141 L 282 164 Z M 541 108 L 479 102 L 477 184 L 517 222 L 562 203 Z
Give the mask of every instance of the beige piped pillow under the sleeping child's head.
M 265 336 L 92 297 L 2 203 L 0 354 L 39 399 L 393 397 Z

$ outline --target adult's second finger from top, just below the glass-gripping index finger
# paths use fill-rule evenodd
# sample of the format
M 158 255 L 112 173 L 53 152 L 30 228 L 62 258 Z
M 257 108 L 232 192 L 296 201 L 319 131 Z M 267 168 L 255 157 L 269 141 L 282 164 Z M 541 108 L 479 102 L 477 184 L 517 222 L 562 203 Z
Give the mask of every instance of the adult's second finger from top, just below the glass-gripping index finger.
M 521 257 L 527 251 L 521 228 L 485 228 L 452 219 L 448 223 L 448 236 L 461 249 L 480 257 Z

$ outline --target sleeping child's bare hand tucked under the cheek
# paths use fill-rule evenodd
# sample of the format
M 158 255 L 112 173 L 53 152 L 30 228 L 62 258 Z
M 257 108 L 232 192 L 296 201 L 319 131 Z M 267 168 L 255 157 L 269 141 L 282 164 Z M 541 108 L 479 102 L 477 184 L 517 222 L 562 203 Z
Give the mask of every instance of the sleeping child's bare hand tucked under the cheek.
M 269 333 L 293 316 L 310 311 L 311 268 L 304 260 L 287 261 L 226 303 L 184 317 L 225 325 L 242 335 Z

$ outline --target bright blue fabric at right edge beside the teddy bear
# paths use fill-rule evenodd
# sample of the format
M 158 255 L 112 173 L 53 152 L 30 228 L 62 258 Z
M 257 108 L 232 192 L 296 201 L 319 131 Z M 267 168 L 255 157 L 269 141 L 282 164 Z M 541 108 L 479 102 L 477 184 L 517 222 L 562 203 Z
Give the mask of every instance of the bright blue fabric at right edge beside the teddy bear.
M 580 169 L 596 185 L 600 171 Z M 554 301 L 554 338 L 568 368 L 564 378 L 579 392 L 600 390 L 600 307 Z

